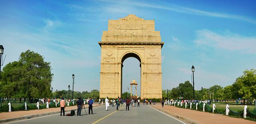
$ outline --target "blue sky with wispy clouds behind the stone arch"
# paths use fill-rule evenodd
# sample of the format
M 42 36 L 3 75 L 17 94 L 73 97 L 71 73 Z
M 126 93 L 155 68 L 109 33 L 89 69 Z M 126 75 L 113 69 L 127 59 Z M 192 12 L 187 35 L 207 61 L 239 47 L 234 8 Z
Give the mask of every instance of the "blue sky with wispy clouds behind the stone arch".
M 191 80 L 195 89 L 231 85 L 246 69 L 256 69 L 254 0 L 0 0 L 0 44 L 4 65 L 28 49 L 51 62 L 54 90 L 100 87 L 100 46 L 108 19 L 135 14 L 155 20 L 162 41 L 162 89 Z M 123 91 L 140 82 L 139 62 L 124 61 Z M 140 88 L 140 83 L 139 83 Z M 139 94 L 140 94 L 140 89 Z

